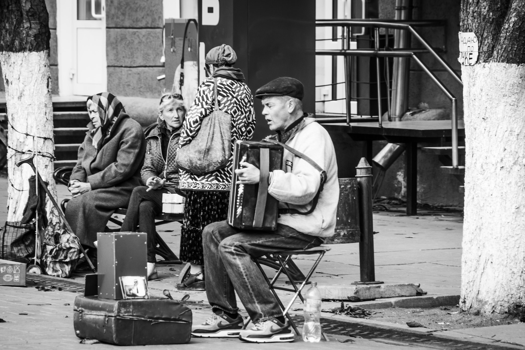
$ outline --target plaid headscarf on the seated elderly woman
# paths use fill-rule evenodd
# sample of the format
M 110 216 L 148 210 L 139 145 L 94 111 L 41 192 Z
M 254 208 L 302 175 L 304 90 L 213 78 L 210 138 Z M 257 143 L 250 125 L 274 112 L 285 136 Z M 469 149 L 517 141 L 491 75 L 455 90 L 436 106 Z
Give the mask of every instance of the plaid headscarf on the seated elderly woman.
M 113 126 L 117 118 L 119 118 L 121 112 L 125 113 L 125 110 L 122 102 L 120 102 L 114 94 L 109 92 L 97 93 L 96 95 L 88 97 L 87 101 L 89 100 L 97 105 L 100 115 L 100 123 L 102 124 L 98 128 L 95 128 L 93 123 L 89 122 L 93 128 L 91 130 L 91 133 L 93 134 L 93 147 L 100 150 L 104 143 L 104 139 L 111 131 L 111 126 Z

